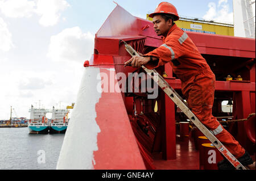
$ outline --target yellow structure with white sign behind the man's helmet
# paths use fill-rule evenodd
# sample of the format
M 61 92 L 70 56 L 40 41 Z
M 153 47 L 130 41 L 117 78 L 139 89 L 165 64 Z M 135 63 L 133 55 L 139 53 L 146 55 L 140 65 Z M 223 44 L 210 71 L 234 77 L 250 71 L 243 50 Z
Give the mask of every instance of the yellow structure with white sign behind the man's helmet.
M 152 21 L 152 18 L 148 17 L 148 14 L 147 14 L 147 20 Z M 199 18 L 190 19 L 190 18 L 181 18 L 181 17 L 175 23 L 183 31 L 234 36 L 233 24 L 218 23 L 218 22 L 207 21 Z

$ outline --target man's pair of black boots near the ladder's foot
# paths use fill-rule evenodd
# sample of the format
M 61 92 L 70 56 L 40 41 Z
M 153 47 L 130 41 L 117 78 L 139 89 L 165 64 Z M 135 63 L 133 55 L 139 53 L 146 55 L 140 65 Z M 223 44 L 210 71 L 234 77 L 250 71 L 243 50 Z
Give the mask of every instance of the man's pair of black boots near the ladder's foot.
M 245 154 L 242 157 L 238 158 L 238 161 L 243 165 L 251 165 L 253 164 L 253 159 L 250 154 L 245 151 Z M 236 168 L 228 161 L 228 159 L 224 158 L 222 161 L 217 163 L 218 170 L 235 170 Z

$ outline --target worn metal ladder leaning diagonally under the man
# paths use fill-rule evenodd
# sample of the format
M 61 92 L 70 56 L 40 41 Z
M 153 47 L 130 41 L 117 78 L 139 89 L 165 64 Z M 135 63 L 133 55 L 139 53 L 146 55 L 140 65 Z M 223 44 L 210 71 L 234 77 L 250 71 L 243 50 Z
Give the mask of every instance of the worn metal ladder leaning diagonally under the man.
M 139 54 L 131 47 L 131 45 L 125 43 L 125 41 L 123 41 L 123 43 L 125 44 L 125 49 L 131 56 L 139 56 Z M 152 73 L 155 73 L 158 75 L 158 80 L 156 80 L 155 77 L 153 78 L 154 81 L 158 83 L 158 86 L 171 98 L 171 100 L 180 108 L 180 110 L 184 112 L 184 114 L 188 117 L 188 119 L 191 120 L 193 124 L 195 124 L 195 126 L 205 135 L 205 137 L 207 137 L 208 140 L 212 142 L 212 144 L 220 151 L 220 153 L 224 155 L 224 157 L 228 159 L 228 161 L 234 167 L 236 167 L 237 170 L 247 170 L 246 167 L 243 166 L 236 159 L 236 157 L 234 157 L 234 155 L 230 153 L 230 151 L 226 149 L 224 145 L 221 144 L 220 141 L 218 141 L 218 139 L 212 134 L 212 132 L 210 132 L 207 129 L 207 127 L 205 127 L 205 125 L 201 123 L 201 121 L 188 108 L 187 103 L 184 102 L 184 100 L 180 97 L 180 95 L 177 94 L 177 92 L 174 89 L 172 89 L 169 83 L 167 83 L 166 80 L 155 69 L 150 70 L 145 68 L 143 65 L 142 65 L 142 69 L 146 71 L 146 73 L 149 75 L 152 75 Z

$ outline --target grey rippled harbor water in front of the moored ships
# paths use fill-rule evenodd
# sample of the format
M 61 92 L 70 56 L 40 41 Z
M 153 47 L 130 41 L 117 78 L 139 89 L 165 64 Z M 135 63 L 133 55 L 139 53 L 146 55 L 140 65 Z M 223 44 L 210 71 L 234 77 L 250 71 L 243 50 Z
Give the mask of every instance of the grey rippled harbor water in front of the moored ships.
M 65 134 L 29 134 L 28 128 L 0 128 L 0 170 L 56 169 Z

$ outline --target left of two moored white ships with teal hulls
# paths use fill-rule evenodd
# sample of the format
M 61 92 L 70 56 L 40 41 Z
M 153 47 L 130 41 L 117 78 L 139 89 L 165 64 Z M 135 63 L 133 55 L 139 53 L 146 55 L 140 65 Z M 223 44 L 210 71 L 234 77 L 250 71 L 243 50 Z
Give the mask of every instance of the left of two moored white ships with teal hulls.
M 30 120 L 28 121 L 28 130 L 31 134 L 47 134 L 49 132 L 49 123 L 46 113 L 49 113 L 49 110 L 44 108 L 34 108 L 31 105 L 29 110 Z

